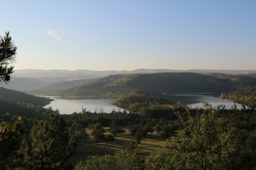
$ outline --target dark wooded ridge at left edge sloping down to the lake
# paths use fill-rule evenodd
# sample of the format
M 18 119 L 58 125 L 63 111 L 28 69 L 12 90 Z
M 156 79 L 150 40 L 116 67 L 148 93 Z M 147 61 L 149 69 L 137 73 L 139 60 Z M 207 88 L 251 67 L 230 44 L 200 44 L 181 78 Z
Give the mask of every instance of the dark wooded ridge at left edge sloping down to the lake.
M 16 90 L 10 90 L 4 87 L 0 87 L 0 101 L 12 104 L 30 103 L 34 106 L 45 106 L 48 105 L 52 101 L 52 99 L 37 97 Z

